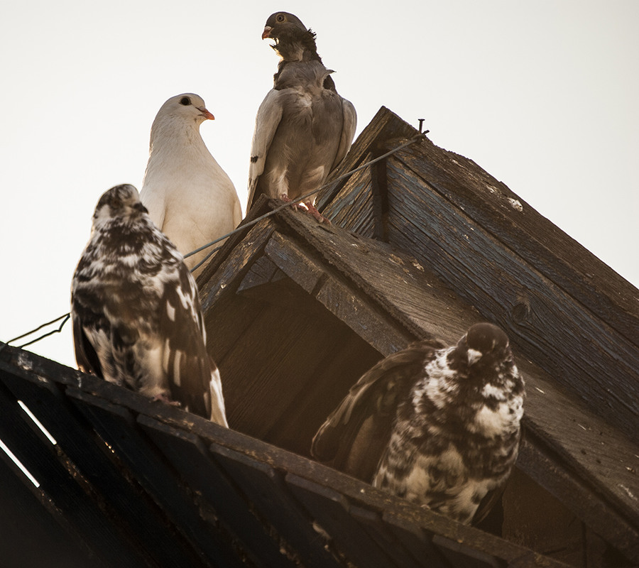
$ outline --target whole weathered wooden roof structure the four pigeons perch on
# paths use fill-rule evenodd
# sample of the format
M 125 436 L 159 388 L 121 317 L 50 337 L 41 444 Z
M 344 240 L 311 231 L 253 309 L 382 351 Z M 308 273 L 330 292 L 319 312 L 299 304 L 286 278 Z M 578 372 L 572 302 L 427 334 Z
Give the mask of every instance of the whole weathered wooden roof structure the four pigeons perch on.
M 381 109 L 335 176 L 415 134 Z M 527 382 L 518 472 L 639 564 L 638 291 L 427 139 L 319 204 L 332 226 L 287 207 L 198 278 L 233 430 L 0 344 L 0 439 L 41 484 L 0 452 L 7 566 L 562 565 L 308 457 L 372 364 L 481 320 Z

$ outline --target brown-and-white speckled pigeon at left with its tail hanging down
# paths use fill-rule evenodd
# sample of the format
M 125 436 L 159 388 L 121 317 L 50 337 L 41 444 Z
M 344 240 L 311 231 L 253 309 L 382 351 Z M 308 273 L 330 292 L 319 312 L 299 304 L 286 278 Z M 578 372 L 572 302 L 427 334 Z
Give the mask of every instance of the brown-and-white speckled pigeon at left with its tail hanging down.
M 133 185 L 102 195 L 71 289 L 81 371 L 227 426 L 195 280 Z

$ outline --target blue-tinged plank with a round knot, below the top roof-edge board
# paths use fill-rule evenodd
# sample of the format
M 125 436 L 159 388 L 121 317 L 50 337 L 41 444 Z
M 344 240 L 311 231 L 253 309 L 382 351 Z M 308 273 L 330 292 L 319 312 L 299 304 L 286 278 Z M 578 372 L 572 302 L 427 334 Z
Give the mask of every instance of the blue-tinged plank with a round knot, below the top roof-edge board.
M 395 197 L 423 184 L 409 170 L 391 164 L 389 179 L 396 187 L 389 197 L 391 240 L 420 251 L 420 262 L 429 263 L 513 339 L 519 337 L 537 364 L 639 439 L 639 351 L 437 192 L 414 190 L 410 201 Z M 417 209 L 431 214 L 416 221 Z

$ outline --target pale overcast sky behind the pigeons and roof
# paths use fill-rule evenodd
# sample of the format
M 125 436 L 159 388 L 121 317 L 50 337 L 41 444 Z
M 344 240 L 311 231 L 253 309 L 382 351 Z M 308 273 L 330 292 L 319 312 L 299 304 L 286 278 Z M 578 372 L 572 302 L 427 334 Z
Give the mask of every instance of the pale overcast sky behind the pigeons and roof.
M 169 97 L 204 98 L 202 136 L 245 206 L 279 10 L 317 32 L 357 134 L 382 105 L 425 118 L 438 146 L 639 285 L 639 1 L 26 0 L 0 20 L 1 340 L 69 310 L 95 204 L 140 188 Z M 28 349 L 75 365 L 70 325 Z

